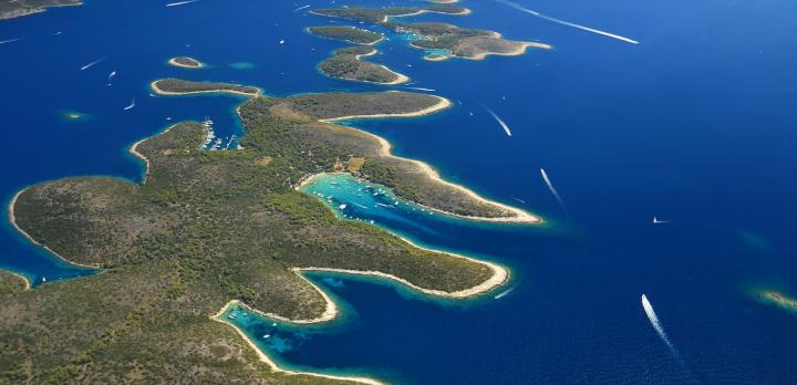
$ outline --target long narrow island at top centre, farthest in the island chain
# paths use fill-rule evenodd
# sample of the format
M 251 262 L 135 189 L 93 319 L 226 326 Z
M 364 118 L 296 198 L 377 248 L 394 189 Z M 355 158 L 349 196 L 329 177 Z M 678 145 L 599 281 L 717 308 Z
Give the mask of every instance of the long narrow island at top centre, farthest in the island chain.
M 468 14 L 470 13 L 470 10 L 453 3 L 436 3 L 428 7 L 318 8 L 310 11 L 310 13 L 313 14 L 371 23 L 385 23 L 389 22 L 391 18 L 418 15 L 427 12 L 445 14 Z

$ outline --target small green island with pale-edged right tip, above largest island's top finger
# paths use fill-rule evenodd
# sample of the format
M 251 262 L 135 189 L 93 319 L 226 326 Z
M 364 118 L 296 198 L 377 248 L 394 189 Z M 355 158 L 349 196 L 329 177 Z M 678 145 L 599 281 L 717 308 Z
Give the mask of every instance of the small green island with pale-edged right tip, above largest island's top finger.
M 338 79 L 395 85 L 406 83 L 410 77 L 393 72 L 384 65 L 363 61 L 361 58 L 376 54 L 370 46 L 349 46 L 335 51 L 334 55 L 319 64 L 319 71 Z

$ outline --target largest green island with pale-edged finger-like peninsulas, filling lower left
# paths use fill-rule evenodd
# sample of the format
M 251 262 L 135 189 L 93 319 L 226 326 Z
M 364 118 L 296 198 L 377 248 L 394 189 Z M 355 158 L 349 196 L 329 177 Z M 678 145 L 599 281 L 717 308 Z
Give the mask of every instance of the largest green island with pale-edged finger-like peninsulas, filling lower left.
M 222 84 L 174 82 L 190 92 Z M 423 163 L 391 155 L 377 136 L 333 123 L 420 116 L 449 104 L 405 92 L 252 96 L 238 107 L 244 149 L 201 150 L 206 127 L 182 122 L 132 146 L 146 166 L 141 183 L 85 176 L 23 189 L 9 207 L 15 228 L 58 256 L 102 271 L 0 293 L 0 379 L 377 383 L 282 370 L 219 315 L 245 305 L 294 323 L 338 316 L 333 300 L 304 271 L 368 274 L 451 298 L 507 282 L 501 266 L 340 220 L 298 190 L 348 163 L 359 166 L 351 170 L 359 177 L 428 207 L 488 220 L 538 220 L 444 181 Z

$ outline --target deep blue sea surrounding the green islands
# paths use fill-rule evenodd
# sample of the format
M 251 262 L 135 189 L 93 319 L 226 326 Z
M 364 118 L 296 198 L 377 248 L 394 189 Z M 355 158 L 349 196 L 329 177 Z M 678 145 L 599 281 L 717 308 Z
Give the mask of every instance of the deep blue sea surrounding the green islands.
M 503 263 L 509 284 L 476 300 L 439 301 L 372 279 L 312 274 L 341 302 L 339 321 L 272 327 L 239 316 L 239 325 L 284 366 L 404 384 L 797 383 L 797 316 L 752 295 L 797 295 L 797 2 L 518 1 L 641 43 L 464 0 L 473 14 L 412 20 L 555 49 L 433 63 L 390 35 L 373 60 L 457 103 L 424 118 L 349 124 L 546 225 L 453 220 L 407 205 L 341 212 Z M 209 116 L 218 135 L 241 134 L 232 110 L 240 98 L 154 97 L 156 79 L 237 82 L 273 95 L 386 89 L 318 73 L 344 44 L 304 32 L 332 19 L 294 10 L 329 2 L 166 2 L 87 0 L 0 22 L 0 41 L 22 39 L 0 44 L 4 201 L 68 176 L 138 180 L 143 167 L 128 146 L 174 121 Z M 332 6 L 341 4 L 390 3 Z M 176 55 L 209 66 L 167 65 Z M 72 112 L 82 115 L 69 118 Z M 333 208 L 353 199 L 312 188 L 335 196 Z M 670 222 L 654 226 L 654 216 Z M 0 267 L 48 284 L 91 273 L 31 246 L 8 221 Z M 652 327 L 642 293 L 672 347 Z

